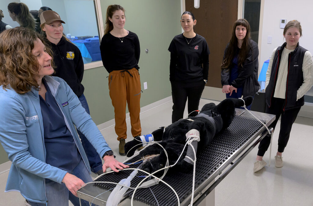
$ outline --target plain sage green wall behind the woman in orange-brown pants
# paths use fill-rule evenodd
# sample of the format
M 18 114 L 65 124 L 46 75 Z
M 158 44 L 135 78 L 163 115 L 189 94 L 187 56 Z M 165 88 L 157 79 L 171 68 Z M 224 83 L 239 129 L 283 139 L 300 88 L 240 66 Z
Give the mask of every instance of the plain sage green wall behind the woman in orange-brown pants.
M 143 91 L 141 107 L 171 96 L 170 53 L 167 48 L 172 38 L 181 33 L 180 0 L 101 0 L 104 22 L 106 9 L 111 4 L 120 4 L 125 8 L 125 29 L 135 32 L 139 37 L 139 73 Z M 149 49 L 148 53 L 145 52 L 146 49 Z M 106 76 L 108 73 L 103 66 L 88 69 L 85 70 L 82 82 L 91 117 L 97 125 L 114 119 Z M 143 89 L 143 82 L 147 82 L 147 90 Z M 0 146 L 0 164 L 7 161 L 7 154 Z

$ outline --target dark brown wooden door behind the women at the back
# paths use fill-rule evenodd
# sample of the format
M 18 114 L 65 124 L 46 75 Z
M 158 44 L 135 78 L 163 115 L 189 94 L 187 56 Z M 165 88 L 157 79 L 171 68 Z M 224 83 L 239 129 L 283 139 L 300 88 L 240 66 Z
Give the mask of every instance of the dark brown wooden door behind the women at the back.
M 194 14 L 197 24 L 194 31 L 203 36 L 210 49 L 209 75 L 206 86 L 222 88 L 221 63 L 230 40 L 233 23 L 238 17 L 237 0 L 201 0 L 198 9 L 193 0 L 185 0 L 186 11 Z

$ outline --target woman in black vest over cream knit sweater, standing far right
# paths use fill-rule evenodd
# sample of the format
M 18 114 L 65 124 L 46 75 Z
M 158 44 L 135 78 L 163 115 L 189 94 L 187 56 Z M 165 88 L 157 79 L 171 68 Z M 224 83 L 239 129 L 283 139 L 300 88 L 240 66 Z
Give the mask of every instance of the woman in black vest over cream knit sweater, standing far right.
M 304 105 L 304 95 L 313 84 L 313 59 L 305 48 L 299 46 L 302 28 L 297 20 L 286 24 L 283 33 L 286 42 L 274 49 L 269 59 L 266 72 L 266 109 L 268 114 L 276 115 L 270 125 L 275 129 L 281 115 L 278 151 L 275 166 L 282 167 L 282 153 L 289 140 L 291 126 Z M 259 151 L 254 163 L 254 172 L 262 169 L 266 162 L 262 159 L 270 144 L 271 136 L 261 140 Z

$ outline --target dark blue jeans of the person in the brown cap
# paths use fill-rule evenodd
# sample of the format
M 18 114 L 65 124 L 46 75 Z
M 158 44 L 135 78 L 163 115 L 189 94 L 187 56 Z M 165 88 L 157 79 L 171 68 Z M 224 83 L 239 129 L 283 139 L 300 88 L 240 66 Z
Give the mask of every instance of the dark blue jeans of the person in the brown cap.
M 86 112 L 90 114 L 85 95 L 82 94 L 80 97 L 78 97 L 78 99 L 80 100 L 81 105 L 85 108 Z M 90 144 L 90 142 L 87 140 L 85 135 L 83 135 L 83 133 L 81 133 L 79 130 L 77 130 L 77 133 L 80 137 L 81 144 L 83 145 L 85 153 L 87 155 L 91 171 L 93 173 L 98 172 L 99 170 L 102 169 L 102 161 L 101 161 L 99 154 L 97 153 L 95 148 Z

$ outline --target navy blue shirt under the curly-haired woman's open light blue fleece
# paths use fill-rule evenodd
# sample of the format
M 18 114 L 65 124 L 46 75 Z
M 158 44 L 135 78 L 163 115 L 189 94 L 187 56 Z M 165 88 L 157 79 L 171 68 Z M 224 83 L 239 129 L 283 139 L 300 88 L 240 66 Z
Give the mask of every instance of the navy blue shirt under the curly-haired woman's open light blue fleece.
M 39 99 L 44 125 L 46 163 L 71 173 L 82 158 L 65 124 L 64 116 L 44 79 L 43 83 L 47 90 L 46 100 L 40 95 Z

